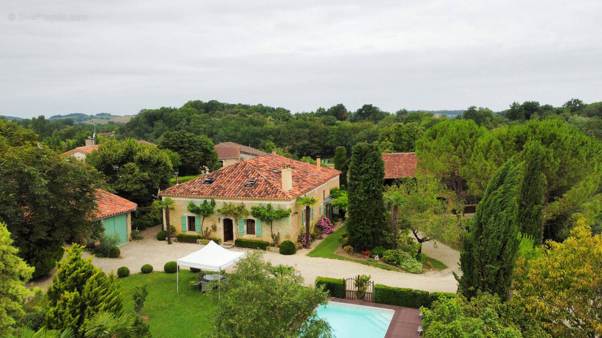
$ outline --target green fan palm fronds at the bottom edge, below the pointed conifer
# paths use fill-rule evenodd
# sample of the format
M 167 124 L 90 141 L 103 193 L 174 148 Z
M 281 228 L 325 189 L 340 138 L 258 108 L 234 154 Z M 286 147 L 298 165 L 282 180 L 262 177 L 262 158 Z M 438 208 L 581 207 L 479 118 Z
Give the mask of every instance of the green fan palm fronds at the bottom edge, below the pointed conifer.
M 85 327 L 85 336 L 92 338 L 131 337 L 134 333 L 134 317 L 131 313 L 116 315 L 98 312 Z

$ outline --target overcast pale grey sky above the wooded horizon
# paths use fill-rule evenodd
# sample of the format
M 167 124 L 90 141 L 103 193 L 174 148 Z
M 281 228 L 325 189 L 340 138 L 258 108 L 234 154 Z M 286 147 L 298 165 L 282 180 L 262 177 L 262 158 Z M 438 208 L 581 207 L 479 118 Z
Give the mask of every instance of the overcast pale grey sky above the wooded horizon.
M 0 10 L 0 115 L 212 99 L 291 112 L 602 100 L 600 0 L 3 0 Z

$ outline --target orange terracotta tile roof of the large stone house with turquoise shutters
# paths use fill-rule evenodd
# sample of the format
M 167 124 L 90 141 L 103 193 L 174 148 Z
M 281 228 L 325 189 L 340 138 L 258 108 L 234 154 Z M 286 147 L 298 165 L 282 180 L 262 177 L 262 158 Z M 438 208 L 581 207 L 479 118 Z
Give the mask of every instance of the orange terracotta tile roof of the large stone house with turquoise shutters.
M 283 164 L 290 164 L 293 189 L 282 190 Z M 337 177 L 338 170 L 285 158 L 274 153 L 247 159 L 161 191 L 161 196 L 236 200 L 293 200 Z M 211 184 L 203 184 L 214 177 Z M 247 183 L 255 180 L 251 187 Z

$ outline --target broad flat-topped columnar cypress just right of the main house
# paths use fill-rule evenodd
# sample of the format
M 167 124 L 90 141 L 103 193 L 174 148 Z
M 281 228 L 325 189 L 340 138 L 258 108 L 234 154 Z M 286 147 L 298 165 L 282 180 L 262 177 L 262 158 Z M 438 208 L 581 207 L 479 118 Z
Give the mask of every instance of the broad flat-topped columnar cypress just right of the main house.
M 385 224 L 383 180 L 385 164 L 376 143 L 358 143 L 349 164 L 347 232 L 355 250 L 371 250 L 380 244 Z

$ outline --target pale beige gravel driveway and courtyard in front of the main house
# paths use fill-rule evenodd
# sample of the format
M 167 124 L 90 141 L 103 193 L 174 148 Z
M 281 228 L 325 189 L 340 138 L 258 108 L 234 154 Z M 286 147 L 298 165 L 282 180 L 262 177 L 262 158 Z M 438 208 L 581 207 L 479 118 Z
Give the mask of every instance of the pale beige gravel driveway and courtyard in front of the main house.
M 92 259 L 95 266 L 102 268 L 103 271 L 113 270 L 117 272 L 120 266 L 127 266 L 132 274 L 140 272 L 140 267 L 144 264 L 151 264 L 155 271 L 163 271 L 163 265 L 170 260 L 176 260 L 202 248 L 202 245 L 191 243 L 178 243 L 168 245 L 165 241 L 157 241 L 155 235 L 159 227 L 152 227 L 142 232 L 144 239 L 129 242 L 120 247 L 121 256 L 116 259 L 96 258 Z M 313 244 L 315 247 L 317 244 Z M 332 277 L 347 278 L 358 274 L 367 274 L 372 276 L 372 280 L 378 284 L 385 284 L 396 287 L 409 287 L 411 289 L 426 290 L 429 292 L 456 292 L 458 283 L 452 275 L 452 271 L 458 270 L 459 253 L 439 243 L 438 248 L 433 247 L 432 242 L 427 242 L 423 246 L 423 252 L 428 254 L 445 265 L 448 269 L 440 272 L 425 272 L 424 274 L 409 274 L 405 272 L 388 271 L 375 268 L 373 266 L 360 263 L 349 262 L 347 260 L 327 259 L 321 257 L 305 256 L 308 250 L 298 250 L 292 256 L 284 256 L 279 253 L 265 252 L 264 258 L 273 264 L 285 264 L 294 266 L 299 270 L 305 279 L 305 285 L 312 286 L 315 278 Z M 250 251 L 251 249 L 231 248 L 234 251 Z M 90 257 L 90 254 L 84 253 L 83 257 Z M 233 271 L 233 267 L 226 269 L 226 272 Z M 175 276 L 173 281 L 175 283 Z M 30 286 L 47 287 L 52 283 L 52 278 L 39 280 L 30 283 Z

